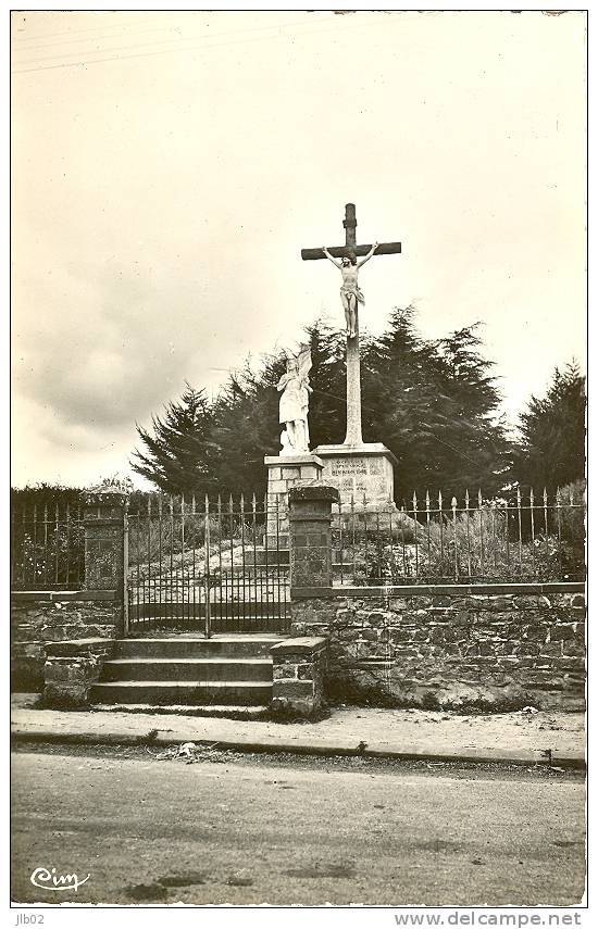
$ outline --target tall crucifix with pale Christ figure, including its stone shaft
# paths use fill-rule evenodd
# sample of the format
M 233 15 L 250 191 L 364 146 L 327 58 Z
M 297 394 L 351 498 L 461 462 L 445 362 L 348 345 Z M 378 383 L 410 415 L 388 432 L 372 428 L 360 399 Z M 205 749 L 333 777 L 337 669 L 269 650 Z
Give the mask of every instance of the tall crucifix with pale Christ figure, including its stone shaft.
M 342 275 L 340 299 L 347 318 L 347 436 L 346 445 L 361 445 L 361 375 L 359 359 L 359 303 L 363 303 L 363 294 L 358 287 L 358 269 L 373 254 L 393 255 L 401 251 L 400 242 L 383 242 L 374 246 L 357 244 L 356 204 L 345 206 L 345 244 L 331 249 L 301 249 L 303 261 L 328 259 L 336 264 Z M 363 261 L 357 259 L 363 256 Z M 340 261 L 335 261 L 340 259 Z

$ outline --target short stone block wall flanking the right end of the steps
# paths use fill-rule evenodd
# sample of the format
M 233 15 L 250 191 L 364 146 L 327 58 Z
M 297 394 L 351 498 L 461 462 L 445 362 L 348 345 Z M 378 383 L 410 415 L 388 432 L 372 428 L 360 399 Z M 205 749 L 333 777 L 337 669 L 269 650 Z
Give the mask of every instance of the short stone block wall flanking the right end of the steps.
M 328 642 L 322 636 L 285 639 L 272 655 L 272 711 L 310 716 L 324 703 Z

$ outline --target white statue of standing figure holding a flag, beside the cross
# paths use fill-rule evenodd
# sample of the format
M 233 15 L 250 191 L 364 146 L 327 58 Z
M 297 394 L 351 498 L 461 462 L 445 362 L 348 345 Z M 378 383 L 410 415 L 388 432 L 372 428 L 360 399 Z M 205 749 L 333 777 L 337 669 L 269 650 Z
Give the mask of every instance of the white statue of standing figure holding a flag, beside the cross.
M 281 455 L 309 452 L 308 406 L 310 393 L 312 393 L 309 378 L 311 364 L 309 346 L 301 346 L 299 354 L 287 357 L 286 374 L 276 386 L 276 389 L 282 391 L 278 422 L 285 426 L 281 434 Z

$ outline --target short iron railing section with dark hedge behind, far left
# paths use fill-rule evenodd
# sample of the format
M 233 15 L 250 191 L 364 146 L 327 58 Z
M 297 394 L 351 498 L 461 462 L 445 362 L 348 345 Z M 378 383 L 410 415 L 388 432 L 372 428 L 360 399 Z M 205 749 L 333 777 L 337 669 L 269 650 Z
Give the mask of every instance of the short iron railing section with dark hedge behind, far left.
M 85 577 L 79 507 L 68 503 L 11 510 L 11 588 L 77 590 Z

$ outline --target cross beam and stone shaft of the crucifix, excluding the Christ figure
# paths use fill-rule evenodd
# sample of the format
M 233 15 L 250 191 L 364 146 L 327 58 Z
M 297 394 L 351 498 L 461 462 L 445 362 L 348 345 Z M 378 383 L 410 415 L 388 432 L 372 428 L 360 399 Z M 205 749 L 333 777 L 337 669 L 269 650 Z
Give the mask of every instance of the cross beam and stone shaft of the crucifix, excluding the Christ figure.
M 345 244 L 328 249 L 333 258 L 352 258 L 366 255 L 372 246 L 358 246 L 356 229 L 356 204 L 347 203 L 345 206 Z M 378 244 L 375 255 L 400 254 L 400 242 L 383 242 Z M 316 261 L 325 259 L 323 249 L 301 249 L 303 261 Z M 361 445 L 361 374 L 359 357 L 359 304 L 356 300 L 356 335 L 353 338 L 347 336 L 347 436 L 346 445 Z

